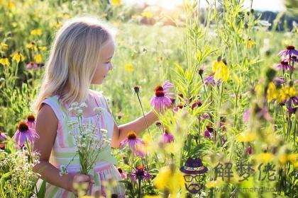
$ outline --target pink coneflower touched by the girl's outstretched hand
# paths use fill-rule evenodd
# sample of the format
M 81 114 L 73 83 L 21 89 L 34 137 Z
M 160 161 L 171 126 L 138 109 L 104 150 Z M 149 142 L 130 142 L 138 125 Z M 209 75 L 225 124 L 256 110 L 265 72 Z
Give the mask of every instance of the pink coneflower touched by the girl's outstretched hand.
M 151 98 L 150 104 L 156 109 L 165 109 L 165 107 L 171 107 L 172 100 L 170 98 L 174 93 L 170 93 L 170 88 L 172 88 L 172 83 L 170 81 L 165 81 L 162 86 L 157 86 L 155 88 L 155 95 Z

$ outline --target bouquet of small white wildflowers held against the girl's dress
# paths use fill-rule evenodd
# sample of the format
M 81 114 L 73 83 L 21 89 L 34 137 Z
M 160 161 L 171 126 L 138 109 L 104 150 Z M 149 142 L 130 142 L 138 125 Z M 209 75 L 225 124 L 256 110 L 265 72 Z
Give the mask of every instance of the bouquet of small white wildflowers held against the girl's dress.
M 87 175 L 89 170 L 94 167 L 99 153 L 111 144 L 111 139 L 108 138 L 106 129 L 100 129 L 101 133 L 99 133 L 99 129 L 96 127 L 96 123 L 100 120 L 102 108 L 94 107 L 93 111 L 96 113 L 97 121 L 95 124 L 88 124 L 82 122 L 84 107 L 87 107 L 86 103 L 72 103 L 70 105 L 68 110 L 75 114 L 76 120 L 67 122 L 67 127 L 69 128 L 69 132 L 75 137 L 75 144 L 77 146 L 76 155 L 79 155 L 80 173 Z M 61 168 L 62 175 L 67 174 L 68 165 Z

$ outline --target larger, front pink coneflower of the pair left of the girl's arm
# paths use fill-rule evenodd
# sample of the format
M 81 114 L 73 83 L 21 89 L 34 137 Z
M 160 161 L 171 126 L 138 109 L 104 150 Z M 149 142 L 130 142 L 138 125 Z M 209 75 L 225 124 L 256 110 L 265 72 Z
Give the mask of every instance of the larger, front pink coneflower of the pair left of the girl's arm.
M 16 144 L 18 146 L 23 147 L 25 145 L 26 139 L 29 142 L 33 142 L 35 138 L 38 138 L 38 134 L 34 129 L 30 129 L 28 124 L 25 121 L 18 123 L 18 129 L 16 133 L 13 135 L 13 138 L 16 139 Z

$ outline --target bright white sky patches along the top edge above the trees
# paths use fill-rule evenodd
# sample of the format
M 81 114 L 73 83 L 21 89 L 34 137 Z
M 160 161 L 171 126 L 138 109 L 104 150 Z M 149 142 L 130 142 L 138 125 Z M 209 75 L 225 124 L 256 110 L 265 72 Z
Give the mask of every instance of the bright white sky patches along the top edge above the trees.
M 181 4 L 182 0 L 123 0 L 127 4 L 150 4 L 159 5 L 162 8 L 175 8 L 175 6 Z M 199 0 L 197 0 L 199 1 Z M 213 1 L 213 0 L 209 0 Z M 253 9 L 258 11 L 284 11 L 284 0 L 253 0 Z M 202 7 L 206 6 L 206 0 L 201 0 Z M 245 0 L 244 6 L 250 6 L 250 0 Z

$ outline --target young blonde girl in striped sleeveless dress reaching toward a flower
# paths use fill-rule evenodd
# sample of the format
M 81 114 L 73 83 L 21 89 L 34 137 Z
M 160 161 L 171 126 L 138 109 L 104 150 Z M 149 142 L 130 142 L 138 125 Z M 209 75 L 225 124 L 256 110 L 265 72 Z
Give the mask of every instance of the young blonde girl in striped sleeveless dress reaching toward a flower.
M 60 175 L 62 165 L 67 165 L 75 152 L 75 139 L 67 131 L 65 117 L 75 118 L 67 112 L 73 102 L 86 103 L 83 122 L 96 123 L 94 107 L 103 107 L 98 129 L 109 132 L 111 146 L 114 148 L 126 138 L 128 132 L 137 134 L 145 130 L 145 120 L 139 117 L 133 122 L 118 126 L 103 95 L 89 89 L 91 84 L 101 84 L 113 69 L 114 38 L 96 18 L 74 18 L 67 21 L 57 32 L 45 69 L 45 78 L 38 98 L 35 100 L 37 113 L 36 131 L 40 136 L 33 149 L 40 153 L 40 163 L 35 171 L 47 182 L 45 197 L 75 197 L 76 183 L 88 186 L 91 194 L 99 190 L 106 196 L 104 181 L 121 180 L 111 156 L 111 148 L 99 156 L 90 175 L 79 175 L 78 157 L 67 166 L 67 175 Z M 158 117 L 153 111 L 145 115 L 148 124 Z M 124 197 L 121 185 L 113 187 L 112 194 Z

